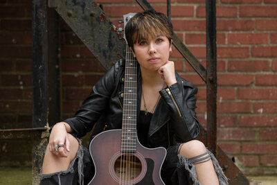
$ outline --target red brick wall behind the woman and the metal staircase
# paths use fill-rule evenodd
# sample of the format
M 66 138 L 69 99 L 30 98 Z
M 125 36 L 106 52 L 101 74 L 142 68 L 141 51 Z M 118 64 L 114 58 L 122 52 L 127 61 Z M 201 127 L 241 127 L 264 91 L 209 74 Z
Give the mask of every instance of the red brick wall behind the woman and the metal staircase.
M 97 2 L 116 26 L 123 14 L 142 10 L 133 0 Z M 150 2 L 166 12 L 166 0 Z M 171 2 L 175 33 L 206 66 L 205 1 Z M 30 5 L 30 0 L 0 0 L 1 128 L 31 125 Z M 61 30 L 62 118 L 67 118 L 105 70 L 64 21 Z M 276 57 L 276 0 L 217 0 L 217 138 L 246 174 L 277 173 Z M 176 49 L 171 58 L 179 74 L 199 88 L 197 115 L 206 125 L 204 82 Z M 0 144 L 1 152 L 15 152 L 7 142 Z

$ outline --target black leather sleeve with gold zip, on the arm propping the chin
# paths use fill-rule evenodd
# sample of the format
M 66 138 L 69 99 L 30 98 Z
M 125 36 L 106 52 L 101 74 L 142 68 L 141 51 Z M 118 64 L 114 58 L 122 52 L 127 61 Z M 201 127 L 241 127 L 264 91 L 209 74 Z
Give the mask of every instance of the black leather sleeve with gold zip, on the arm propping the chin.
M 187 142 L 199 135 L 199 121 L 195 114 L 197 87 L 183 79 L 160 91 L 170 107 L 170 127 L 176 142 Z

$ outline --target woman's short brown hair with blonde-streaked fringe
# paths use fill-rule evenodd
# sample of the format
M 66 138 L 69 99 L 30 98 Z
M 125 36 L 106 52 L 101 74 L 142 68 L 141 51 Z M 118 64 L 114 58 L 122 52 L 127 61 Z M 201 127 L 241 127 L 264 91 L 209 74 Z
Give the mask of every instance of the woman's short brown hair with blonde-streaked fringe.
M 134 44 L 148 39 L 164 35 L 171 43 L 173 27 L 170 19 L 161 12 L 146 10 L 138 12 L 125 26 L 125 37 L 129 47 L 134 51 Z

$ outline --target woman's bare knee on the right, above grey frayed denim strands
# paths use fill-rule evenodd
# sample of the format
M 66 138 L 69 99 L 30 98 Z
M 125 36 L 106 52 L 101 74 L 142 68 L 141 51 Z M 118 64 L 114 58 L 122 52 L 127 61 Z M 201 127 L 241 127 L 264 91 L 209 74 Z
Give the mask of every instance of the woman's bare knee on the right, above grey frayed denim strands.
M 179 153 L 186 158 L 202 155 L 206 152 L 204 143 L 198 140 L 188 141 L 180 145 Z

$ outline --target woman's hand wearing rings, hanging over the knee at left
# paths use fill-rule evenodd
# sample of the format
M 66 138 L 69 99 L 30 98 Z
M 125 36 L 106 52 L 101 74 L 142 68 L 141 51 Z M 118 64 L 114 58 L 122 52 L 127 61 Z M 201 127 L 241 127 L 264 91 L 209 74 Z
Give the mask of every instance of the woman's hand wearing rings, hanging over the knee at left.
M 64 122 L 56 123 L 49 136 L 49 150 L 58 157 L 67 157 L 66 151 L 70 152 L 70 143 L 67 137 L 66 127 L 70 126 Z M 55 150 L 55 147 L 58 147 L 57 150 Z

